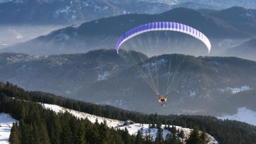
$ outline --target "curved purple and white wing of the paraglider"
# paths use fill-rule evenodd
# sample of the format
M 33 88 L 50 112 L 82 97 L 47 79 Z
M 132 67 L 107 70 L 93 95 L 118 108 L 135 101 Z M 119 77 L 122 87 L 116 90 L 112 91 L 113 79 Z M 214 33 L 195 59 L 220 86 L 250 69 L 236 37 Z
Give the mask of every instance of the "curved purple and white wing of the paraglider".
M 211 43 L 209 39 L 195 28 L 191 28 L 190 26 L 179 24 L 177 22 L 152 22 L 133 28 L 124 33 L 124 35 L 120 36 L 116 42 L 116 52 L 118 53 L 120 45 L 122 45 L 126 40 L 129 40 L 133 36 L 140 35 L 141 33 L 145 33 L 147 31 L 180 31 L 181 33 L 186 33 L 188 35 L 194 36 L 198 40 L 201 40 L 206 45 L 208 51 L 211 51 Z

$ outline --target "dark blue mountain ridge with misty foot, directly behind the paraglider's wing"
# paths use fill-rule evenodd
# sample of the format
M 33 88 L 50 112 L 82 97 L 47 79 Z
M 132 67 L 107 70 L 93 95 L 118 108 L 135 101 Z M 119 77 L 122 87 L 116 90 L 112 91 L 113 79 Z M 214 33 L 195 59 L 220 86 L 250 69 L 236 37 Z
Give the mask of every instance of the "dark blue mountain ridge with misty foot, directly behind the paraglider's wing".
M 254 38 L 256 31 L 252 29 L 256 29 L 256 20 L 253 15 L 256 15 L 255 10 L 241 7 L 212 12 L 175 8 L 156 15 L 119 15 L 52 31 L 49 35 L 1 49 L 0 52 L 49 55 L 113 49 L 118 37 L 131 28 L 148 22 L 173 21 L 202 31 L 211 41 L 210 55 L 216 56 L 229 47 Z

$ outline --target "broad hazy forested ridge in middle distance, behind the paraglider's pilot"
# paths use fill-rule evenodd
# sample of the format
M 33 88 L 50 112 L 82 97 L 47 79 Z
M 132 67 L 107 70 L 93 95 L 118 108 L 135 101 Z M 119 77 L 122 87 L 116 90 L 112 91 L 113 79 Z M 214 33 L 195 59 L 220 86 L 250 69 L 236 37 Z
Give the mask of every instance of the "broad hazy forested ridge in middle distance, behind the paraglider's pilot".
M 256 110 L 254 99 L 250 99 L 252 104 L 248 105 L 249 99 L 239 96 L 243 92 L 248 92 L 248 97 L 255 95 L 255 61 L 234 57 L 184 57 L 194 61 L 195 65 L 169 93 L 168 104 L 161 111 L 157 95 L 114 49 L 53 56 L 2 53 L 0 79 L 26 90 L 51 92 L 130 110 L 140 109 L 144 113 L 231 115 L 241 107 Z M 164 86 L 168 72 L 164 61 L 168 59 L 166 55 L 157 56 L 157 59 L 163 60 L 159 86 Z M 161 93 L 163 88 L 159 89 Z M 236 100 L 230 100 L 234 95 Z

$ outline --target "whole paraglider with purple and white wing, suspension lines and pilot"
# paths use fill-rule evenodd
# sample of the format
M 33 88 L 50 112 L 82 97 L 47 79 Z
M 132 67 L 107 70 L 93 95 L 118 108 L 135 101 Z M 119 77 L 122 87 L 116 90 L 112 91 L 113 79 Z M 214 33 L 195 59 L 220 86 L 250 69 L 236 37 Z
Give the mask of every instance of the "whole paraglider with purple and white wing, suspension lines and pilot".
M 155 33 L 152 34 L 151 31 Z M 198 31 L 195 28 L 177 22 L 152 22 L 148 24 L 143 24 L 136 28 L 132 28 L 131 30 L 120 36 L 120 38 L 116 42 L 116 52 L 141 74 L 141 76 L 143 77 L 143 79 L 145 79 L 150 88 L 152 88 L 152 90 L 154 90 L 154 92 L 159 96 L 159 102 L 161 103 L 161 106 L 165 106 L 167 100 L 167 93 L 171 92 L 172 88 L 180 81 L 180 77 L 184 76 L 188 72 L 189 68 L 191 68 L 191 64 L 189 64 L 189 60 L 185 60 L 185 56 L 175 55 L 172 54 L 172 50 L 166 50 L 168 48 L 173 48 L 173 43 L 171 42 L 173 37 L 167 35 L 169 36 L 167 38 L 169 42 L 166 43 L 168 43 L 169 46 L 163 46 L 161 42 L 164 42 L 163 37 L 166 36 L 166 33 L 164 33 L 164 36 L 159 36 L 156 34 L 157 31 L 174 31 L 175 33 L 184 33 L 184 35 L 188 34 L 190 37 L 200 40 L 207 47 L 207 53 L 211 51 L 211 43 L 207 36 L 204 35 L 204 33 Z M 146 34 L 144 35 L 144 33 Z M 150 34 L 147 35 L 147 33 Z M 156 36 L 154 36 L 155 34 Z M 140 35 L 144 35 L 144 37 L 138 37 Z M 131 41 L 134 38 L 137 38 L 136 42 Z M 155 41 L 152 40 L 154 38 L 156 38 Z M 144 42 L 142 42 L 143 40 Z M 125 49 L 125 46 L 122 46 L 127 43 L 126 41 L 131 42 L 131 44 L 125 45 L 127 49 Z M 173 41 L 176 42 L 175 40 Z M 157 45 L 156 43 L 159 45 Z M 186 41 L 182 43 L 186 43 Z M 191 44 L 188 45 L 190 46 Z M 131 47 L 133 47 L 132 50 L 136 51 L 137 54 L 131 52 Z M 120 51 L 120 49 L 122 49 L 122 51 Z M 169 57 L 167 59 L 160 59 L 156 56 L 157 54 L 159 54 L 159 51 L 162 50 L 165 53 L 169 54 Z M 151 58 L 148 58 L 148 55 L 144 54 L 145 52 L 148 52 L 149 55 L 155 55 L 153 55 Z M 175 62 L 173 62 L 172 60 Z M 185 68 L 181 67 L 181 65 L 185 63 L 184 61 L 186 61 L 186 65 L 184 66 Z M 168 72 L 159 76 L 159 70 L 164 69 L 164 66 L 168 68 Z M 160 97 L 158 84 L 159 77 L 164 76 L 168 76 L 166 78 L 167 84 L 165 98 L 163 96 Z

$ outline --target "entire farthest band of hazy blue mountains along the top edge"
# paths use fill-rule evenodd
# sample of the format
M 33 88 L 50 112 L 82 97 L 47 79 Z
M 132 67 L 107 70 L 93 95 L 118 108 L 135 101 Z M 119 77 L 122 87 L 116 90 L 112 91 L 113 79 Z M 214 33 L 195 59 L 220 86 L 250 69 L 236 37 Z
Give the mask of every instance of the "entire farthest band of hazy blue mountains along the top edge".
M 1 0 L 0 24 L 76 24 L 125 13 L 156 14 L 177 7 L 221 10 L 232 6 L 255 8 L 256 3 L 253 0 Z

